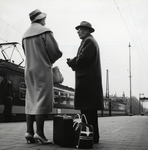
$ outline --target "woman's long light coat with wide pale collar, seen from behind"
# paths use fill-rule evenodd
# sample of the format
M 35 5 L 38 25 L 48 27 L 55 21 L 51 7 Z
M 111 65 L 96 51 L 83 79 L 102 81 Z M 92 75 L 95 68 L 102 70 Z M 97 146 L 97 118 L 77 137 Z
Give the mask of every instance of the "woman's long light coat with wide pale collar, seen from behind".
M 26 114 L 48 114 L 53 108 L 52 64 L 62 56 L 50 29 L 33 23 L 25 32 L 22 46 L 26 56 Z

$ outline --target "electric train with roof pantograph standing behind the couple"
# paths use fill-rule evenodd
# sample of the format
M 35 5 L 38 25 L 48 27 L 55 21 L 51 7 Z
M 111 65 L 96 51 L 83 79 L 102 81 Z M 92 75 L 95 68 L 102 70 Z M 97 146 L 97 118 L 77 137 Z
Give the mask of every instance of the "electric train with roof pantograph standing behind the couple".
M 3 46 L 16 48 L 17 42 L 1 43 L 0 48 L 5 60 L 0 59 L 0 122 L 25 121 L 25 93 L 26 85 L 24 81 L 24 68 L 20 64 L 15 64 L 4 53 Z M 14 51 L 14 49 L 13 49 Z M 111 103 L 111 108 L 109 107 Z M 104 99 L 103 111 L 98 111 L 98 115 L 109 116 L 110 109 L 112 115 L 125 115 L 125 104 Z M 61 84 L 54 85 L 54 109 L 47 119 L 52 119 L 55 114 L 75 115 L 79 113 L 74 110 L 74 89 Z

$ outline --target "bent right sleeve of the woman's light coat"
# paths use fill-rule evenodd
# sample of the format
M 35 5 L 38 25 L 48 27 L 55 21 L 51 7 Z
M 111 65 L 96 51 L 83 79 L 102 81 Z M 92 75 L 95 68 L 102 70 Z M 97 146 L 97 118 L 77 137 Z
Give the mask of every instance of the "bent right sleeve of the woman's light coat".
M 47 55 L 53 64 L 62 56 L 62 52 L 59 50 L 58 44 L 51 32 L 42 34 L 42 38 L 45 42 Z

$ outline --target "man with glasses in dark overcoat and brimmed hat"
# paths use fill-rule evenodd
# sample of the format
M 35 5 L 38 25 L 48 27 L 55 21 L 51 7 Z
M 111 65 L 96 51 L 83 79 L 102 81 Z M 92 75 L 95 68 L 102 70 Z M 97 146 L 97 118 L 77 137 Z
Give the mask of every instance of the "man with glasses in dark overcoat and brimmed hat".
M 67 59 L 69 67 L 75 71 L 75 109 L 85 114 L 88 123 L 94 127 L 94 143 L 99 142 L 97 110 L 103 109 L 103 90 L 99 46 L 91 35 L 95 30 L 89 22 L 82 21 L 76 27 L 81 45 L 77 56 Z

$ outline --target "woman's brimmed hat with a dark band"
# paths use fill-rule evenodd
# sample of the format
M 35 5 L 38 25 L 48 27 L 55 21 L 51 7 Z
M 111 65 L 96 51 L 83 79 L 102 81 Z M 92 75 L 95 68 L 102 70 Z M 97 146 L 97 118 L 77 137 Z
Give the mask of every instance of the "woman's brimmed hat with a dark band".
M 47 14 L 42 13 L 39 9 L 36 9 L 29 14 L 31 22 L 44 19 L 44 18 L 46 18 L 46 16 L 47 16 Z

